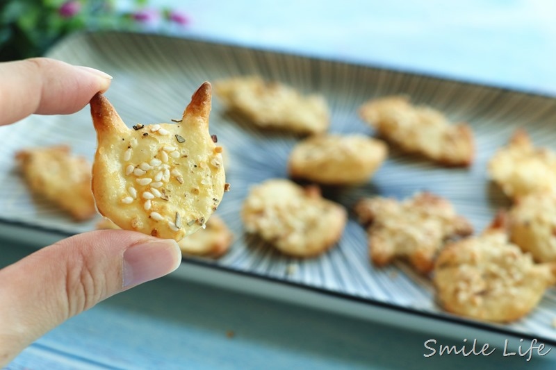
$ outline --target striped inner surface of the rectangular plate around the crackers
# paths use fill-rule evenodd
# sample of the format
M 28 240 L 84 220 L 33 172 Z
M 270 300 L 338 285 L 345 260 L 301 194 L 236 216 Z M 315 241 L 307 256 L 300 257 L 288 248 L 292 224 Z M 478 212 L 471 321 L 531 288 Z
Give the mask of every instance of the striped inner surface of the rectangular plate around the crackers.
M 450 199 L 457 211 L 482 230 L 507 199 L 486 176 L 486 163 L 515 128 L 525 127 L 534 142 L 556 149 L 556 100 L 463 83 L 433 76 L 407 74 L 364 65 L 318 60 L 261 49 L 245 49 L 199 40 L 133 33 L 74 35 L 58 44 L 49 56 L 77 65 L 102 69 L 114 77 L 106 96 L 124 121 L 151 124 L 179 118 L 190 95 L 203 81 L 259 74 L 282 81 L 302 92 L 320 92 L 332 109 L 334 133 L 367 133 L 357 108 L 375 96 L 409 94 L 445 112 L 452 121 L 473 126 L 477 156 L 470 169 L 445 169 L 402 153 L 389 159 L 366 185 L 327 189 L 325 195 L 351 209 L 362 196 L 381 194 L 402 199 L 430 190 Z M 368 261 L 366 233 L 350 217 L 338 246 L 319 258 L 299 260 L 281 255 L 260 239 L 243 232 L 238 212 L 251 185 L 267 178 L 286 177 L 286 160 L 299 139 L 283 133 L 264 133 L 241 117 L 225 112 L 213 99 L 211 133 L 228 155 L 231 192 L 218 213 L 234 231 L 231 251 L 218 261 L 224 269 L 247 271 L 290 283 L 340 292 L 373 302 L 445 316 L 436 306 L 430 281 L 403 263 L 375 269 Z M 0 217 L 31 227 L 80 233 L 95 221 L 76 224 L 43 199 L 28 194 L 13 162 L 14 153 L 28 146 L 70 144 L 92 160 L 95 132 L 88 108 L 71 116 L 33 116 L 0 128 Z M 539 308 L 505 330 L 556 340 L 551 323 L 556 312 L 556 290 L 549 289 Z M 494 327 L 494 326 L 493 326 Z

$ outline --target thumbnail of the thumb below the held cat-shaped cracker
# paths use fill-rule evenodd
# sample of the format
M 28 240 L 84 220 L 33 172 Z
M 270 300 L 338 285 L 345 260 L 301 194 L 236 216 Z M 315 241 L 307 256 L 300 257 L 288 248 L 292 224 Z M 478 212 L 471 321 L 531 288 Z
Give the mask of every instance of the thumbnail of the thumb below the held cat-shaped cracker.
M 172 239 L 158 239 L 131 246 L 124 252 L 123 287 L 170 274 L 180 262 L 181 251 Z

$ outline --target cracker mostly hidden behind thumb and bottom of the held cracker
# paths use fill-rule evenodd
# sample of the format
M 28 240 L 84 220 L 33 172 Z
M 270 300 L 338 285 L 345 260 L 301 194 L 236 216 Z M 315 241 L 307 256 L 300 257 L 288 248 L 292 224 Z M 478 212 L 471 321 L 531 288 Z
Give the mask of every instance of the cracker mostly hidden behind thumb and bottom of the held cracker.
M 109 219 L 101 219 L 97 229 L 121 230 Z M 184 237 L 178 242 L 182 255 L 199 255 L 203 257 L 219 258 L 229 250 L 234 235 L 218 215 L 212 215 L 206 221 L 206 228 Z

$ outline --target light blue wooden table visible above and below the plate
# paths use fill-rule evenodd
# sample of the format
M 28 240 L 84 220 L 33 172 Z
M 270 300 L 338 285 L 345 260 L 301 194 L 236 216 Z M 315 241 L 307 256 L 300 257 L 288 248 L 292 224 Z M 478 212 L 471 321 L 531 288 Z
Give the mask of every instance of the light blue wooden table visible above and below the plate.
M 180 31 L 265 49 L 366 62 L 556 94 L 553 1 L 158 1 Z M 555 117 L 556 123 L 556 117 Z M 0 267 L 31 253 L 0 239 Z M 109 298 L 19 355 L 9 369 L 555 368 L 556 349 L 434 355 L 416 333 L 172 276 Z M 459 344 L 434 337 L 439 343 Z M 480 337 L 477 338 L 480 340 Z M 500 345 L 500 344 L 498 344 Z

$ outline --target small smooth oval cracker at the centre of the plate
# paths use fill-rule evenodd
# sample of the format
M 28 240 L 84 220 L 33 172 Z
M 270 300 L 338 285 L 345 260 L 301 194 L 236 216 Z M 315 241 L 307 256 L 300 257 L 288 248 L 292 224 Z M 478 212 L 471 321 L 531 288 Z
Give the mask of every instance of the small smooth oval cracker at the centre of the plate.
M 388 155 L 384 142 L 363 135 L 315 135 L 291 151 L 288 170 L 293 178 L 327 185 L 366 182 Z

